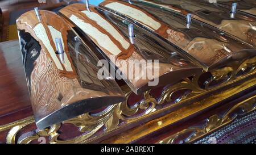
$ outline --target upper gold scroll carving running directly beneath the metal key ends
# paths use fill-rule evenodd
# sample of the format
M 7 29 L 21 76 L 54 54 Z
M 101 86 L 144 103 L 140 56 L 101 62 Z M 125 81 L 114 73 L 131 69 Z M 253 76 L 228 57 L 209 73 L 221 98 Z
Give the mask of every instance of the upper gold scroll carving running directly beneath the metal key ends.
M 56 124 L 51 128 L 37 131 L 27 137 L 24 137 L 23 139 L 19 139 L 18 143 L 30 143 L 32 140 L 38 139 L 39 137 L 47 136 L 49 136 L 50 143 L 87 143 L 90 140 L 97 139 L 98 137 L 104 136 L 116 129 L 125 127 L 125 125 L 136 122 L 137 120 L 159 114 L 159 112 L 163 112 L 168 108 L 176 106 L 177 104 L 183 104 L 187 100 L 209 94 L 213 90 L 220 89 L 221 87 L 225 87 L 226 85 L 240 81 L 243 78 L 252 76 L 255 74 L 255 65 L 256 57 L 253 57 L 242 62 L 233 63 L 223 68 L 214 69 L 210 71 L 213 76 L 205 82 L 206 85 L 204 88 L 199 85 L 199 79 L 204 74 L 201 73 L 195 75 L 193 78 L 185 78 L 175 85 L 166 87 L 162 91 L 159 98 L 152 97 L 150 90 L 146 91 L 143 94 L 144 99 L 142 99 L 141 102 L 134 104 L 134 106 L 128 105 L 127 100 L 132 94 L 132 91 L 129 89 L 129 87 L 124 86 L 122 87 L 122 90 L 126 95 L 125 102 L 109 106 L 97 114 L 87 113 L 63 122 L 63 124 L 71 123 L 79 127 L 82 135 L 73 137 L 69 140 L 59 140 L 59 133 L 57 133 L 57 131 L 59 130 L 61 124 Z M 240 75 L 238 75 L 238 73 Z M 214 81 L 217 81 L 218 85 L 210 86 L 209 84 Z M 173 98 L 172 96 L 180 90 L 189 90 L 189 93 L 181 94 L 176 99 Z M 168 104 L 164 108 L 158 108 L 159 104 L 164 104 L 167 102 L 172 102 L 174 104 Z M 250 106 L 247 108 L 250 108 Z M 212 128 L 218 126 L 218 123 L 220 123 L 218 122 L 220 121 L 220 118 L 213 116 L 213 118 L 210 118 L 209 121 L 215 122 L 216 124 L 209 123 L 212 126 L 208 125 L 205 129 L 195 129 L 195 131 L 197 131 L 195 132 L 195 135 L 204 135 L 205 131 L 212 131 Z M 18 133 L 20 129 L 26 127 L 26 125 L 33 122 L 34 119 L 28 118 L 27 120 L 23 120 L 23 122 L 7 124 L 0 127 L 0 131 L 11 128 L 6 138 L 7 143 L 15 143 L 16 133 Z M 221 124 L 223 124 L 223 122 Z M 104 131 L 102 131 L 100 135 L 93 137 L 93 135 L 102 128 L 104 128 Z M 189 130 L 193 131 L 193 129 Z M 193 138 L 191 138 L 191 140 L 193 140 Z

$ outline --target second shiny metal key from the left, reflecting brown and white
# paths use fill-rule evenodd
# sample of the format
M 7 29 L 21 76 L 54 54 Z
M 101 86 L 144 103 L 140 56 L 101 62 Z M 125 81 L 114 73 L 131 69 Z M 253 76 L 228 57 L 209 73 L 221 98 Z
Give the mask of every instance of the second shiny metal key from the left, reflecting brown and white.
M 128 26 L 130 23 L 127 20 L 95 6 L 90 6 L 90 11 L 85 10 L 82 4 L 73 4 L 61 9 L 60 14 L 76 25 L 82 35 L 88 36 L 86 40 L 93 41 L 107 60 L 110 61 L 110 58 L 114 56 L 115 62 L 113 60 L 111 62 L 116 69 L 122 72 L 127 85 L 134 93 L 140 94 L 152 87 L 171 85 L 184 77 L 201 72 L 199 67 L 180 55 L 180 49 L 175 45 L 162 41 L 154 34 L 136 25 L 133 28 L 133 45 L 129 41 Z M 103 41 L 106 44 L 102 44 Z M 114 49 L 114 47 L 118 47 L 118 49 Z M 118 50 L 122 55 L 116 52 Z M 126 62 L 137 60 L 144 61 L 143 64 L 146 65 L 146 68 L 151 66 L 155 68 L 154 60 L 158 60 L 159 74 L 154 75 L 153 78 L 142 79 L 141 76 L 145 74 L 141 71 L 143 66 L 135 67 L 135 70 L 139 70 L 138 74 L 130 70 L 130 66 L 126 70 Z M 152 62 L 147 60 L 152 60 Z M 131 74 L 133 78 L 127 78 Z M 148 85 L 156 78 L 159 78 L 157 86 Z

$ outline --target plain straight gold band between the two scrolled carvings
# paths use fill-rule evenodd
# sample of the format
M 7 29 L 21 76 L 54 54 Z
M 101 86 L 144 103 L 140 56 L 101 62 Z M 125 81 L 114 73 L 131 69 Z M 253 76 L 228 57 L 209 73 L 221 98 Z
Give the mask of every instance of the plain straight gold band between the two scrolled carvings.
M 184 104 L 176 103 L 174 106 L 178 106 L 179 108 L 175 108 L 176 110 L 172 110 L 170 112 L 166 112 L 166 110 L 162 108 L 157 111 L 158 114 L 165 113 L 165 115 L 160 116 L 160 118 L 150 120 L 149 122 L 145 122 L 143 125 L 138 125 L 137 127 L 122 131 L 121 133 L 101 141 L 101 143 L 131 143 L 132 141 L 147 136 L 148 134 L 158 131 L 163 127 L 167 127 L 168 125 L 179 122 L 185 118 L 188 118 L 189 116 L 197 115 L 201 111 L 220 103 L 221 100 L 233 97 L 234 95 L 240 93 L 241 90 L 254 86 L 255 82 L 256 78 L 248 79 L 239 85 L 234 85 L 226 90 L 221 90 L 218 91 L 218 93 L 208 95 L 207 98 L 198 100 L 192 104 L 185 103 L 185 106 Z M 154 114 L 154 112 L 152 112 L 152 114 Z M 151 114 L 148 114 L 146 116 L 148 117 L 150 115 Z

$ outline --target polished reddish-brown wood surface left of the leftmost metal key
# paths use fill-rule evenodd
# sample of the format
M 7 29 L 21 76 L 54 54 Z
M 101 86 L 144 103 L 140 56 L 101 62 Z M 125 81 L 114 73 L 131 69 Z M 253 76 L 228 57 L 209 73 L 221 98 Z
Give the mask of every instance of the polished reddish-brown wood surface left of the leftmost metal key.
M 10 115 L 31 107 L 18 40 L 0 43 L 0 68 L 0 124 L 3 124 L 20 119 Z

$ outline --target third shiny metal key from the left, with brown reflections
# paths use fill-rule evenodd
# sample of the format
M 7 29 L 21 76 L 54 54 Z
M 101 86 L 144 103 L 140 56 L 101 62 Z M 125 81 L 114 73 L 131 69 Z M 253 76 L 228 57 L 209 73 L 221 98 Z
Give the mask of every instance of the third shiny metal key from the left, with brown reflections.
M 191 59 L 206 71 L 233 60 L 255 55 L 253 45 L 235 39 L 208 24 L 192 19 L 191 27 L 188 29 L 184 14 L 170 12 L 144 2 L 131 3 L 106 0 L 100 3 L 100 6 L 147 31 L 156 33 L 168 43 L 177 45 L 185 51 L 185 55 L 192 57 Z

